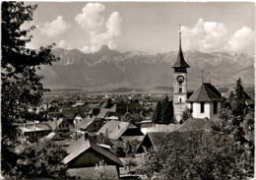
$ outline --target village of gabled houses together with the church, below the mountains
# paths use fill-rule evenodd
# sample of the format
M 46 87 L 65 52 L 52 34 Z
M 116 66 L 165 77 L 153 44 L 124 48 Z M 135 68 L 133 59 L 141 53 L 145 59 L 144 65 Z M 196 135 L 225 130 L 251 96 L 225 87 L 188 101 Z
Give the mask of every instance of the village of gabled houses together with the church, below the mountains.
M 187 132 L 213 131 L 222 109 L 230 106 L 228 98 L 234 90 L 218 90 L 211 80 L 204 80 L 203 72 L 201 85 L 188 91 L 190 66 L 182 52 L 179 32 L 177 60 L 170 65 L 173 92 L 46 96 L 38 108 L 31 109 L 36 113 L 46 111 L 45 121 L 17 124 L 20 139 L 24 146 L 49 141 L 63 147 L 67 155 L 62 162 L 71 177 L 148 179 L 137 172 L 148 150 L 158 149 L 172 137 L 179 144 Z M 253 110 L 253 98 L 243 93 L 247 108 Z M 158 106 L 164 98 L 167 110 L 162 118 Z

